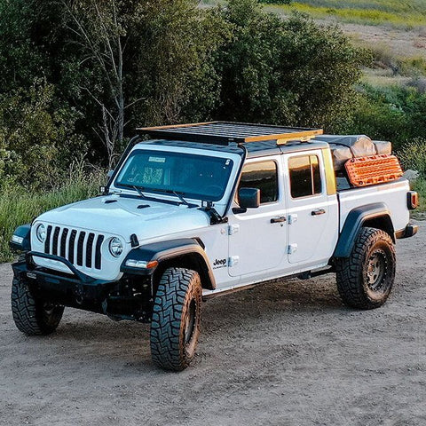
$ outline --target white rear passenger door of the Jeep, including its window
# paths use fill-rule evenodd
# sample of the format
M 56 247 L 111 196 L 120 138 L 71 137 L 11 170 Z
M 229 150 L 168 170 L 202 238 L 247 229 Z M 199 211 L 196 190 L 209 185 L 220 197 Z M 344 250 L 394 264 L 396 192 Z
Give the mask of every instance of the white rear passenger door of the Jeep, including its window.
M 335 248 L 338 203 L 335 191 L 327 190 L 323 153 L 329 154 L 315 150 L 284 156 L 290 264 L 327 263 Z

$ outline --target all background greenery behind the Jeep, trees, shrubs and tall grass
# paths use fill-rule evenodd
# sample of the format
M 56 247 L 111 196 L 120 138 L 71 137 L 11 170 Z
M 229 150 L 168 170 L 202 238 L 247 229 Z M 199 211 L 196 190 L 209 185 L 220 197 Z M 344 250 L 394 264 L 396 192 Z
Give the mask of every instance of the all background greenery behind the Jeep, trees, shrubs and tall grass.
M 293 4 L 282 19 L 257 0 L 0 0 L 0 261 L 14 225 L 96 193 L 139 126 L 319 126 L 407 152 L 416 138 L 419 152 L 421 85 L 361 81 L 385 52 Z M 422 74 L 425 64 L 392 66 Z

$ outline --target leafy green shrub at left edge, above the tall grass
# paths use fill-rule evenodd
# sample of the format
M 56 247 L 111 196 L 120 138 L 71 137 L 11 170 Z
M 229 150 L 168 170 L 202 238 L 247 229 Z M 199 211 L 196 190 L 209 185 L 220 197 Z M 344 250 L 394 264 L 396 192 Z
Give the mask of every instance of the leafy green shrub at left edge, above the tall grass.
M 28 91 L 0 93 L 0 189 L 23 185 L 51 189 L 63 179 L 83 138 L 77 114 L 55 102 L 51 84 L 36 80 Z

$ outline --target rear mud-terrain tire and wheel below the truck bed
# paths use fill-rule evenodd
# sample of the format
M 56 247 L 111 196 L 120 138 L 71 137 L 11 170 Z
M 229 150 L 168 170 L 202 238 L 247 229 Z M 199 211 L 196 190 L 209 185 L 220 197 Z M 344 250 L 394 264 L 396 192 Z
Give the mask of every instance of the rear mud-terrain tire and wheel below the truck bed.
M 343 303 L 358 309 L 382 306 L 395 280 L 395 248 L 388 233 L 361 228 L 351 256 L 336 259 L 337 289 Z

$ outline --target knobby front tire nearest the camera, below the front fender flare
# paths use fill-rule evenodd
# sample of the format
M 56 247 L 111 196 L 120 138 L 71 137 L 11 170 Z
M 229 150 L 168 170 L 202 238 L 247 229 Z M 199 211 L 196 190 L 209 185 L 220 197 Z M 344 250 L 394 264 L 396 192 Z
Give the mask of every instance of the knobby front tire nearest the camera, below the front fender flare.
M 201 296 L 198 272 L 170 268 L 163 273 L 151 322 L 151 355 L 158 367 L 182 371 L 191 363 L 200 336 Z

